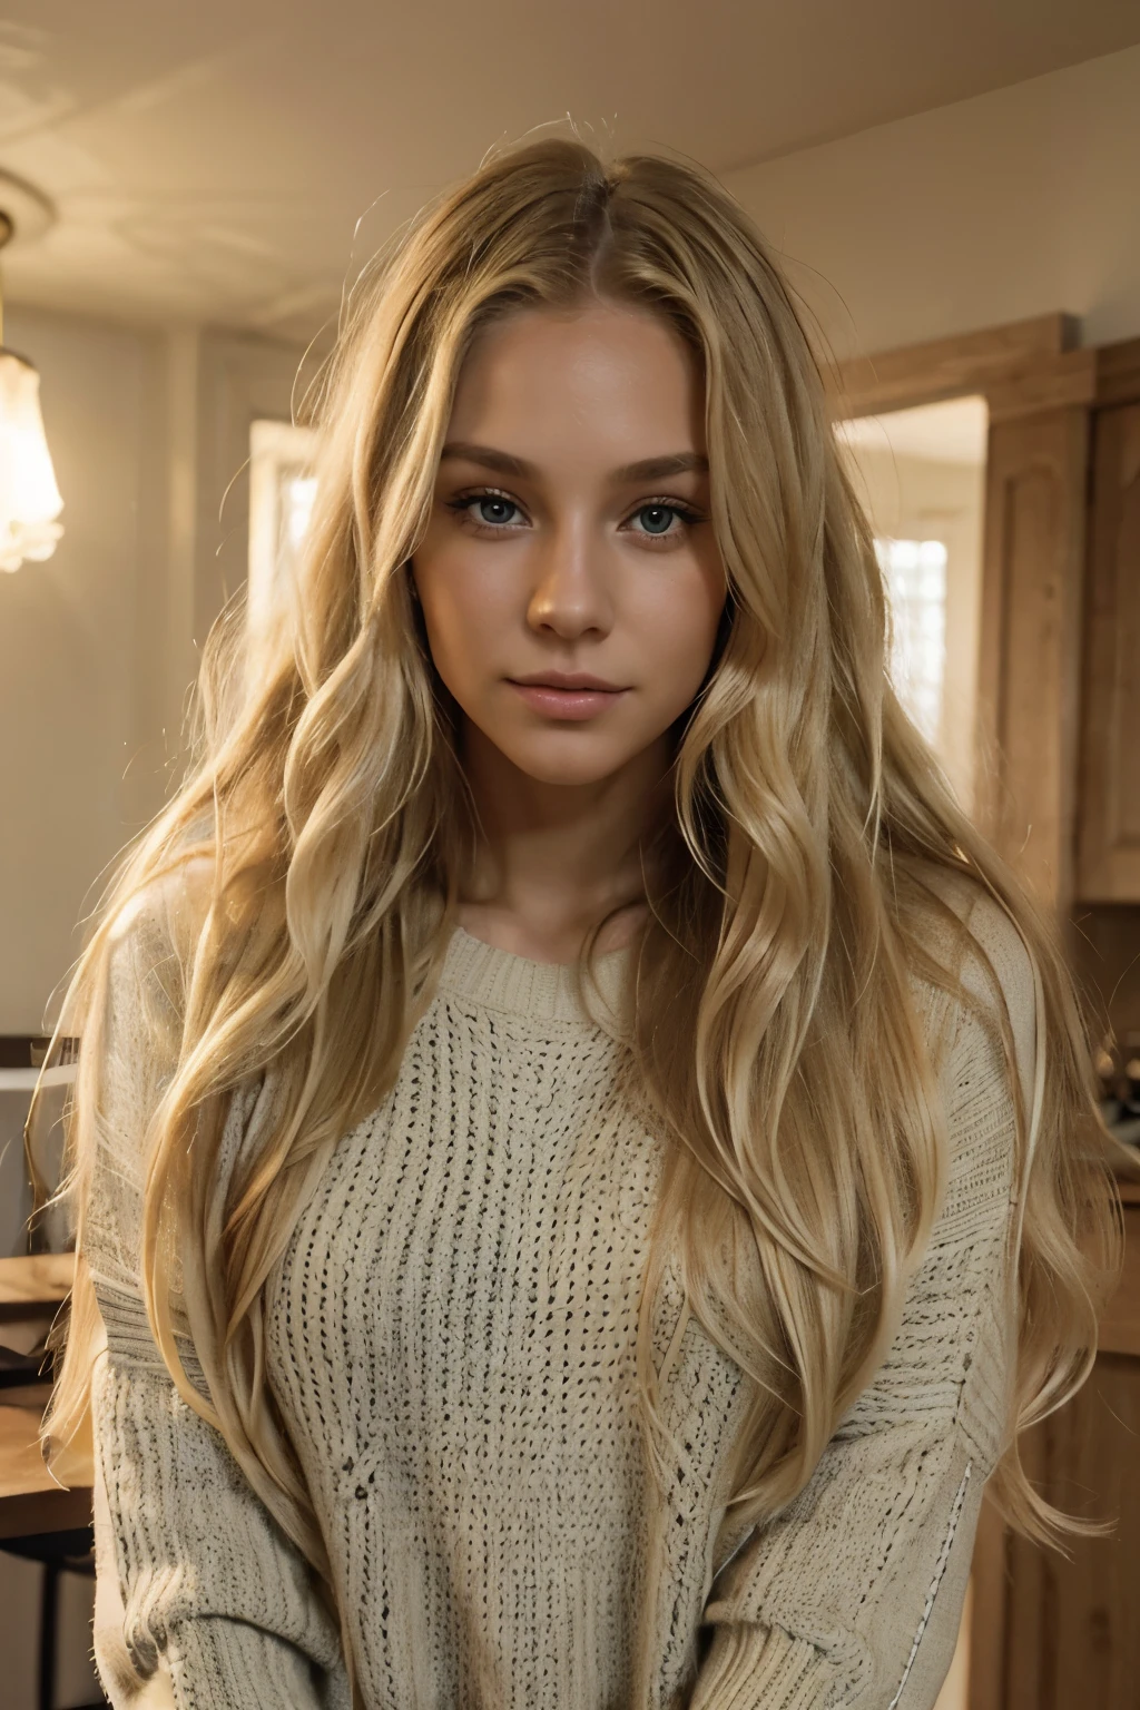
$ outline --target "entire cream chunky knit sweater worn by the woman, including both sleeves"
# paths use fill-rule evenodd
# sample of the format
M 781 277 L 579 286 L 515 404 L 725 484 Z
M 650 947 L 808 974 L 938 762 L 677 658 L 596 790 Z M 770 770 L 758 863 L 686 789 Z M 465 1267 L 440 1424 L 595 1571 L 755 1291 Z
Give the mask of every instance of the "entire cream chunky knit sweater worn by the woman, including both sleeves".
M 1029 1108 L 1027 952 L 988 899 L 961 911 L 1000 978 Z M 602 963 L 603 1004 L 627 958 Z M 108 1334 L 92 1390 L 96 1660 L 116 1707 L 173 1693 L 178 1710 L 345 1710 L 340 1638 L 308 1565 L 178 1397 L 140 1301 L 161 970 L 137 920 L 109 971 L 87 1233 Z M 962 975 L 993 1011 L 981 964 Z M 747 1382 L 689 1318 L 663 1397 L 684 1455 L 655 1546 L 634 1346 L 663 1147 L 571 970 L 453 934 L 397 1084 L 337 1144 L 268 1282 L 267 1377 L 364 1710 L 930 1710 L 1003 1447 L 1015 1118 L 986 1014 L 914 992 L 945 1040 L 952 1163 L 890 1353 L 803 1493 L 743 1529 L 725 1474 Z M 265 1108 L 265 1088 L 234 1096 L 222 1168 Z M 658 1365 L 682 1305 L 670 1264 Z M 646 1636 L 655 1669 L 638 1681 Z

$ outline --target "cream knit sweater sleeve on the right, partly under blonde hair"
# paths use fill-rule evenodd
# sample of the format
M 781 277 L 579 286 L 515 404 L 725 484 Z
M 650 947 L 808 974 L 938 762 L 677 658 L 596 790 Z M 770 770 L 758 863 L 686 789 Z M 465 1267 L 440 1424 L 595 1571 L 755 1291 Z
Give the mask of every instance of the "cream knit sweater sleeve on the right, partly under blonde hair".
M 1008 918 L 971 915 L 1002 983 L 1025 1110 L 1034 978 Z M 976 959 L 964 983 L 988 1002 Z M 872 1385 L 800 1496 L 721 1568 L 690 1710 L 931 1710 L 957 1640 L 983 1484 L 1005 1447 L 1012 1077 L 962 1004 L 942 1070 L 950 1180 Z

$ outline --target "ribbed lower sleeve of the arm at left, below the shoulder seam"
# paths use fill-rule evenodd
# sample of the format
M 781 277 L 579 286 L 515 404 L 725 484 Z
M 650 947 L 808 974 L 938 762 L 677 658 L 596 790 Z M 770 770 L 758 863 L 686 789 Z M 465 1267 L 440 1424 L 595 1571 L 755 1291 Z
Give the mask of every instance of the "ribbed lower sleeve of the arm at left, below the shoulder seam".
M 121 1325 L 123 1303 L 108 1317 Z M 92 1423 L 96 1660 L 111 1703 L 347 1705 L 308 1565 L 166 1373 L 116 1347 L 115 1329 L 108 1341 Z

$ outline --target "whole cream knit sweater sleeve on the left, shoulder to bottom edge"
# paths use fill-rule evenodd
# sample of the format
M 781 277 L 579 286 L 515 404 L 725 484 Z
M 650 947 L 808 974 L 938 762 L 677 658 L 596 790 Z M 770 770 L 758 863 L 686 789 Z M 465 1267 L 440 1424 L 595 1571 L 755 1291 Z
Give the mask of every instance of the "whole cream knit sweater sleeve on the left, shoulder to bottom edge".
M 174 1389 L 140 1298 L 142 1141 L 176 1024 L 173 968 L 154 913 L 137 917 L 115 942 L 104 1004 L 84 1238 L 106 1329 L 92 1375 L 96 1662 L 116 1710 L 342 1710 L 340 1640 L 311 1570 Z M 251 1105 L 234 1098 L 231 1130 Z

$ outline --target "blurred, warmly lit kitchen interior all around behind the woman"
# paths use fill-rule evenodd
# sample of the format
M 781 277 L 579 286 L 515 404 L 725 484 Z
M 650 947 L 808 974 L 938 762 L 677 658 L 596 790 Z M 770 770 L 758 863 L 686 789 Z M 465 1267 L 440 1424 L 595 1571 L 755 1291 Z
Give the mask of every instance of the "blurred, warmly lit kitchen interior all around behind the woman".
M 91 1493 L 34 1454 L 65 1231 L 21 1142 L 99 874 L 178 776 L 224 600 L 287 585 L 294 398 L 379 243 L 499 142 L 709 166 L 781 251 L 868 504 L 892 670 L 1058 911 L 1140 1137 L 1140 0 L 3 0 L 0 1707 L 101 1703 Z M 62 1098 L 68 1065 L 51 1069 Z M 36 1159 L 51 1182 L 48 1142 Z M 983 1518 L 940 1710 L 1140 1703 L 1140 1195 L 1070 1558 Z

